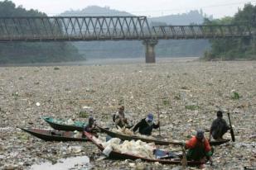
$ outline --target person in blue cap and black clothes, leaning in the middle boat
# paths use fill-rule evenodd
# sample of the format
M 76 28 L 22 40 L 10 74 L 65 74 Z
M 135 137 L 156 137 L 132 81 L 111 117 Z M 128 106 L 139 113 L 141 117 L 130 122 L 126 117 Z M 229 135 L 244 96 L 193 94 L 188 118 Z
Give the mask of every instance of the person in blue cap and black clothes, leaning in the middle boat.
M 146 118 L 140 120 L 137 125 L 134 126 L 133 132 L 138 132 L 141 135 L 151 135 L 153 129 L 159 128 L 159 120 L 157 122 L 157 125 L 154 123 L 154 116 L 152 113 L 149 113 Z

